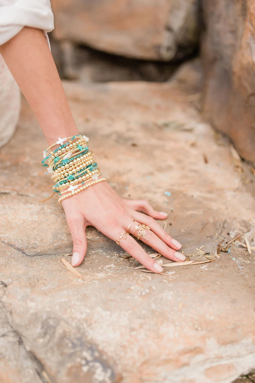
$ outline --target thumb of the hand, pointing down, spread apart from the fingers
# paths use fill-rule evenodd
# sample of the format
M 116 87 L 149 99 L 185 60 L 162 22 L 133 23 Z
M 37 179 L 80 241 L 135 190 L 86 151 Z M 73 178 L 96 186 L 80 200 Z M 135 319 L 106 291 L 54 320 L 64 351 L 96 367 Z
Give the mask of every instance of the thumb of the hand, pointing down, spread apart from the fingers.
M 67 224 L 73 240 L 72 266 L 79 266 L 87 251 L 87 239 L 84 227 L 84 217 L 67 218 Z

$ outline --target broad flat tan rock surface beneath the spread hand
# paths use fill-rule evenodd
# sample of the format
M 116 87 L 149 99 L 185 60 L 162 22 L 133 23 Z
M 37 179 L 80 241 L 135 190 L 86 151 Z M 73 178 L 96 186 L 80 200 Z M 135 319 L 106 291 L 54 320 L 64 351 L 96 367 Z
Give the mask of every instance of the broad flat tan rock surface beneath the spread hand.
M 184 254 L 214 255 L 217 236 L 242 231 L 254 246 L 254 176 L 201 121 L 183 74 L 64 86 L 110 184 L 167 211 L 161 224 Z M 52 187 L 39 164 L 45 146 L 23 101 L 0 151 L 0 382 L 230 383 L 254 368 L 254 251 L 234 246 L 154 275 L 129 268 L 137 262 L 89 228 L 78 279 L 60 261 L 72 248 L 63 210 L 56 198 L 41 202 Z

